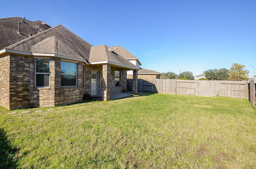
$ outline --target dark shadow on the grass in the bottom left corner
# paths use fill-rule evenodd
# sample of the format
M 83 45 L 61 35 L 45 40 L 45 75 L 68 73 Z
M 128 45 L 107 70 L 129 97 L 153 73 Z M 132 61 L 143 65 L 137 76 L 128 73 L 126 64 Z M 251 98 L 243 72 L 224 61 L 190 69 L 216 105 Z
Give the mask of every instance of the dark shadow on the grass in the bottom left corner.
M 18 149 L 13 147 L 7 140 L 6 132 L 0 128 L 0 168 L 1 169 L 14 169 L 17 167 L 14 155 Z

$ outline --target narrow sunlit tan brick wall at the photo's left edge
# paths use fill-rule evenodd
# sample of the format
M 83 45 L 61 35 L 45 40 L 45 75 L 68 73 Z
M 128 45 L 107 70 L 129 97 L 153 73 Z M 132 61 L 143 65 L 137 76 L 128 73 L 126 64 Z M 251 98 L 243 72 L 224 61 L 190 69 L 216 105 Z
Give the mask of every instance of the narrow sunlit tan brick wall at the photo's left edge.
M 10 55 L 0 57 L 0 106 L 10 106 Z

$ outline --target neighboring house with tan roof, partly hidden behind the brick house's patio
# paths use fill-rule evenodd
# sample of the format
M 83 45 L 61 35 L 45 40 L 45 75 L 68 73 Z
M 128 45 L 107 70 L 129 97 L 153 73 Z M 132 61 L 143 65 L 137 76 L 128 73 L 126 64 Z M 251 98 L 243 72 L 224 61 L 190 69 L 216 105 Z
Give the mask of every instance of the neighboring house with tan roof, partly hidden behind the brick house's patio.
M 125 59 L 130 61 L 132 64 L 136 65 L 137 67 L 141 66 L 141 63 L 137 57 L 132 55 L 129 51 L 124 49 L 122 46 L 111 46 L 110 49 L 114 50 L 115 53 L 118 53 L 122 55 Z M 132 79 L 133 78 L 133 71 L 127 71 L 127 79 Z

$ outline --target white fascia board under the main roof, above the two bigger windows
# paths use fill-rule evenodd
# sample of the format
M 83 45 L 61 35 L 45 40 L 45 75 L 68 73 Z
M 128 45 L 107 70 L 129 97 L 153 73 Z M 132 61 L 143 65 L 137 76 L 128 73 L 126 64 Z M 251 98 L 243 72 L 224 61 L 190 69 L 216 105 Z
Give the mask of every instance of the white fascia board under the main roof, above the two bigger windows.
M 64 55 L 58 55 L 58 54 L 54 54 L 54 53 L 36 53 L 36 52 L 18 51 L 18 50 L 15 50 L 15 49 L 2 49 L 0 51 L 0 54 L 4 54 L 4 53 L 15 53 L 15 54 L 21 54 L 21 55 L 30 55 L 30 56 L 60 57 L 60 58 L 63 58 L 63 59 L 86 62 L 85 59 L 78 59 L 78 58 L 64 56 Z

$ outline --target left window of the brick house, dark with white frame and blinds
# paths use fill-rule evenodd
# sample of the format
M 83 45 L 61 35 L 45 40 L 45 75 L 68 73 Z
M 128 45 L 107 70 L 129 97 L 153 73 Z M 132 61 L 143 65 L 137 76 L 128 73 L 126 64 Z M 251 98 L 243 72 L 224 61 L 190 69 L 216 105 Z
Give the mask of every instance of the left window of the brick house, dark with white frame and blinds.
M 36 60 L 36 87 L 50 86 L 50 61 Z

